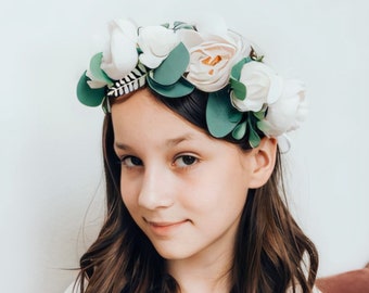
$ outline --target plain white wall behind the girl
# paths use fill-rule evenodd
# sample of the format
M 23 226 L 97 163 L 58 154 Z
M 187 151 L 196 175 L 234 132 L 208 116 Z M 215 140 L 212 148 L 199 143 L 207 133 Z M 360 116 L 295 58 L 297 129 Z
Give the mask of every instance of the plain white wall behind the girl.
M 80 105 L 75 87 L 107 21 L 207 11 L 306 81 L 310 115 L 292 137 L 288 177 L 319 275 L 369 262 L 367 1 L 14 0 L 0 9 L 1 292 L 63 292 L 99 227 L 102 112 Z

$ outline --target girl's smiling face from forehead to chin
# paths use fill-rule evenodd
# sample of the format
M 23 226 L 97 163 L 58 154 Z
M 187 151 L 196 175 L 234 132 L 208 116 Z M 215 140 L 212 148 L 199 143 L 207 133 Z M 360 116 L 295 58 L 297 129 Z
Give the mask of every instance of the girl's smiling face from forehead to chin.
M 169 260 L 231 257 L 253 151 L 211 138 L 148 90 L 114 104 L 112 119 L 123 201 L 156 251 Z

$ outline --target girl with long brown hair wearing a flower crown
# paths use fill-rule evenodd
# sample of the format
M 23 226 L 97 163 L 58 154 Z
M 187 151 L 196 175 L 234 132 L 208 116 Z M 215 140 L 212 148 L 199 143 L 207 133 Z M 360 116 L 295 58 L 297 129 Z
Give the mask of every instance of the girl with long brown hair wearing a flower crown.
M 77 87 L 105 111 L 106 217 L 76 292 L 315 292 L 277 143 L 305 116 L 301 81 L 221 20 L 110 33 Z

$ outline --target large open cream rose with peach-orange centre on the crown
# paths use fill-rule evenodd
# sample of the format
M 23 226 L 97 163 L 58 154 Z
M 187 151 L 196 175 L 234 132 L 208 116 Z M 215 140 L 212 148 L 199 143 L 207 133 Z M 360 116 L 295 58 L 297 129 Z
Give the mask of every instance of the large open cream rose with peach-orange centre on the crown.
M 199 33 L 181 33 L 182 41 L 190 52 L 187 79 L 206 92 L 217 91 L 228 85 L 232 66 L 251 50 L 240 35 L 227 29 L 224 22 L 219 21 L 213 26 L 199 26 Z

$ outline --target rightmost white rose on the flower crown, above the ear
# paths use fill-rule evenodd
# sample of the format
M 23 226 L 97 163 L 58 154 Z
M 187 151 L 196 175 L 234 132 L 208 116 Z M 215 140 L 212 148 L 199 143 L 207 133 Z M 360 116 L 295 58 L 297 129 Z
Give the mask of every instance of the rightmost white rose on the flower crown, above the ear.
M 267 136 L 281 136 L 297 129 L 305 120 L 307 112 L 304 85 L 297 79 L 288 79 L 282 97 L 269 105 L 267 116 L 260 122 L 260 128 Z

